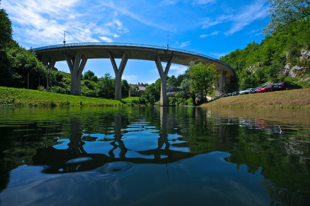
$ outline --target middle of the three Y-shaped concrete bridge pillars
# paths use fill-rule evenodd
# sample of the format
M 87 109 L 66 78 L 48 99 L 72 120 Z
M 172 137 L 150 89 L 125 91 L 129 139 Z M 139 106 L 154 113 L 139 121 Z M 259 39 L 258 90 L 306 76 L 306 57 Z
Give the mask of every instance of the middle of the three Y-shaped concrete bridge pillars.
M 113 69 L 114 69 L 114 73 L 115 73 L 115 100 L 122 100 L 122 75 L 125 69 L 125 66 L 127 64 L 128 61 L 128 57 L 126 52 L 124 52 L 122 60 L 121 60 L 121 64 L 119 65 L 119 67 L 117 68 L 117 65 L 115 63 L 115 59 L 113 58 L 112 54 L 110 52 L 108 52 Z

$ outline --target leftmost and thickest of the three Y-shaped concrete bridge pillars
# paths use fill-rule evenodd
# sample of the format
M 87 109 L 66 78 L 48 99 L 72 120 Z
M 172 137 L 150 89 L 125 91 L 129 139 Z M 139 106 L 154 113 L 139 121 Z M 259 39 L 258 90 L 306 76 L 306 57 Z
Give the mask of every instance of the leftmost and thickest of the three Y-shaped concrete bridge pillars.
M 87 58 L 77 52 L 75 57 L 64 53 L 71 73 L 71 95 L 81 96 L 81 75 L 86 65 Z

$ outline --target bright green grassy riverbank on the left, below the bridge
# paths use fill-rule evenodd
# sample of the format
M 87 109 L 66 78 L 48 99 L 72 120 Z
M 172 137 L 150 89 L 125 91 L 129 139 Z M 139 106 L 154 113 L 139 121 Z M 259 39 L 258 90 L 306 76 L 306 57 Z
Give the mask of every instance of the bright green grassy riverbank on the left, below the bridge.
M 73 96 L 31 89 L 0 87 L 0 106 L 124 106 L 132 105 L 133 98 L 122 101 Z

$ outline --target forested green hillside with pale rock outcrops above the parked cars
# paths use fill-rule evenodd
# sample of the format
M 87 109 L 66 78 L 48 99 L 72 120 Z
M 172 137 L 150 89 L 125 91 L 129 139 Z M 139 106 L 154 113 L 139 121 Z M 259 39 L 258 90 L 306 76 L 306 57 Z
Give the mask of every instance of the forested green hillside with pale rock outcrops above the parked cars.
M 302 18 L 267 35 L 261 43 L 249 43 L 220 60 L 230 64 L 237 79 L 227 90 L 245 89 L 266 82 L 294 81 L 301 86 L 310 81 L 310 21 Z

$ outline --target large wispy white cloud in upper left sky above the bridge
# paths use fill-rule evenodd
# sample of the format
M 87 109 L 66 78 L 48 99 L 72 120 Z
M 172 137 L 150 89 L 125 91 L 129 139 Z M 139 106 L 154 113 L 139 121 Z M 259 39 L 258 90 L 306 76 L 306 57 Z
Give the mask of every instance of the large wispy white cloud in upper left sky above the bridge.
M 128 32 L 119 20 L 114 20 L 115 25 L 106 26 L 95 20 L 101 14 L 80 12 L 76 9 L 80 4 L 78 0 L 17 0 L 2 2 L 1 6 L 13 22 L 14 33 L 24 43 L 61 44 L 64 30 L 69 32 L 67 43 L 99 42 L 97 35 L 113 38 Z

